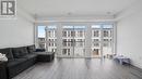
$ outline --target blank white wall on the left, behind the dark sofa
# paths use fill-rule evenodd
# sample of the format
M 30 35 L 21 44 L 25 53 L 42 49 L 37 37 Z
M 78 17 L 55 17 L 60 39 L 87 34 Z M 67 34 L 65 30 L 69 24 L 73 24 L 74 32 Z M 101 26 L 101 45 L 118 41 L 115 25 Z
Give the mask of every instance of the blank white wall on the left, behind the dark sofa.
M 34 25 L 28 14 L 17 10 L 15 18 L 0 18 L 0 48 L 34 43 Z

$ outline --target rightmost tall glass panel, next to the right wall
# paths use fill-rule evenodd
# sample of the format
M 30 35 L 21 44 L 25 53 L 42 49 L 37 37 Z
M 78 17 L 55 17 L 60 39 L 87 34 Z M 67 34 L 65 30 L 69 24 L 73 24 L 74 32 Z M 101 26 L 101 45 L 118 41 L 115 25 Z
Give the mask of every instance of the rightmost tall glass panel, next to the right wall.
M 111 57 L 113 47 L 114 47 L 114 26 L 113 25 L 103 25 L 103 56 Z

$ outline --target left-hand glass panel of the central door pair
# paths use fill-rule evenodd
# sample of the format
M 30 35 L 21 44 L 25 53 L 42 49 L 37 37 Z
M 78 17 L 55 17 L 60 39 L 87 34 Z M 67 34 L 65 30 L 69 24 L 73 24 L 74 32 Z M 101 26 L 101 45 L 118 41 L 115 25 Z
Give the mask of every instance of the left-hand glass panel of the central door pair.
M 73 26 L 62 26 L 62 56 L 73 57 L 74 51 L 74 28 Z

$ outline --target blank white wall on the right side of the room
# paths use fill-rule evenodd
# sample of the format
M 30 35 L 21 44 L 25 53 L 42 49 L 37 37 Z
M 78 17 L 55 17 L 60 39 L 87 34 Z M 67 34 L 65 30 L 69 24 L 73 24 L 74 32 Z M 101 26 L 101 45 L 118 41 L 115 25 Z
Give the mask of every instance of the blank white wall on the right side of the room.
M 142 4 L 128 10 L 130 14 L 117 24 L 117 53 L 131 58 L 142 68 Z

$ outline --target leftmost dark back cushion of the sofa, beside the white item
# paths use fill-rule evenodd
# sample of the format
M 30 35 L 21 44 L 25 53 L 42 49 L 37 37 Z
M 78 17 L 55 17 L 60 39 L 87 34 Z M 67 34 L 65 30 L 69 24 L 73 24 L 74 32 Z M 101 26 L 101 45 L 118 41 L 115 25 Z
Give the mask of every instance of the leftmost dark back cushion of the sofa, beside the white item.
M 5 54 L 8 60 L 13 60 L 12 50 L 10 48 L 0 49 L 0 53 Z

